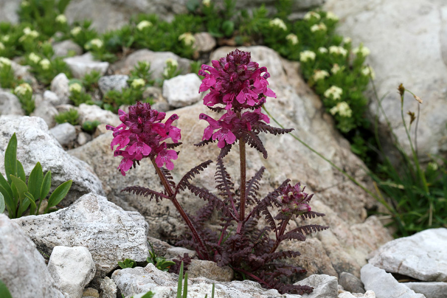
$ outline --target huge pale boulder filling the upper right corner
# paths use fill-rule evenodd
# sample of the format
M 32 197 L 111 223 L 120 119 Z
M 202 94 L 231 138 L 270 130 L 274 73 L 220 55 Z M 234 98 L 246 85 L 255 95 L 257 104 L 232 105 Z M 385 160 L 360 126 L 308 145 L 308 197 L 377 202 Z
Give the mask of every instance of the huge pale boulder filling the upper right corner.
M 382 106 L 404 149 L 411 152 L 402 126 L 399 95 L 396 94 L 400 83 L 424 101 L 420 105 L 419 155 L 427 158 L 428 153 L 446 153 L 446 1 L 327 0 L 324 9 L 332 10 L 340 17 L 338 33 L 350 36 L 354 46 L 363 42 L 371 50 L 367 63 L 375 71 L 374 83 L 378 96 L 385 96 Z M 370 94 L 373 99 L 373 93 Z M 404 112 L 411 110 L 417 113 L 417 105 L 413 96 L 406 92 Z M 376 107 L 376 101 L 371 100 L 372 115 L 375 115 Z M 386 134 L 387 125 L 383 114 L 379 113 L 378 120 L 380 135 L 389 135 Z M 408 125 L 408 118 L 406 121 Z M 410 132 L 412 136 L 414 128 L 415 125 Z M 386 140 L 389 147 L 391 138 Z

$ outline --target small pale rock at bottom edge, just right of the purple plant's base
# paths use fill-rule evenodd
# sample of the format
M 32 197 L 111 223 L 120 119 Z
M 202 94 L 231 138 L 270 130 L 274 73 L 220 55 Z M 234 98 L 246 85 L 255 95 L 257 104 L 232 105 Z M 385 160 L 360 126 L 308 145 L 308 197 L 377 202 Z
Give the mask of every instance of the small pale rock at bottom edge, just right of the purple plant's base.
M 294 285 L 312 287 L 312 293 L 305 295 L 307 298 L 337 298 L 338 295 L 338 283 L 335 276 L 314 274 Z

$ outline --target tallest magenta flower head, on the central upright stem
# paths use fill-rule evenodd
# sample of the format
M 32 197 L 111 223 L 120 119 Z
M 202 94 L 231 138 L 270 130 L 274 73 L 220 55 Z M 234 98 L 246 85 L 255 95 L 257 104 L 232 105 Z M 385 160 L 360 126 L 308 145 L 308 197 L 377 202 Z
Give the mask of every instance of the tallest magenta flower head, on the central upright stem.
M 235 50 L 226 58 L 213 60 L 213 66 L 202 65 L 200 75 L 205 76 L 199 92 L 210 89 L 204 97 L 206 106 L 224 106 L 224 116 L 215 120 L 205 114 L 200 119 L 210 124 L 204 131 L 202 140 L 218 140 L 218 147 L 233 144 L 242 131 L 251 131 L 255 122 L 263 120 L 269 123 L 267 115 L 261 113 L 266 97 L 276 97 L 267 87 L 270 74 L 267 68 L 251 61 L 249 52 Z M 251 112 L 241 113 L 243 109 Z M 216 131 L 216 132 L 215 132 Z

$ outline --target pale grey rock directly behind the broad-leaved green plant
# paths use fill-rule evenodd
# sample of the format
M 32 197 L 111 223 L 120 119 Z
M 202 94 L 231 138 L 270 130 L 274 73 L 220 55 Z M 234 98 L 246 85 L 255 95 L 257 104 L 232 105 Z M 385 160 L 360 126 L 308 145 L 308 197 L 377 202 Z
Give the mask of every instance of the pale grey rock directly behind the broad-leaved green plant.
M 91 167 L 69 155 L 48 131 L 45 121 L 38 117 L 14 119 L 0 116 L 0 172 L 4 173 L 4 150 L 13 133 L 17 136 L 17 159 L 26 174 L 40 161 L 44 172 L 51 170 L 51 190 L 63 182 L 73 180 L 69 193 L 60 203 L 62 206 L 68 206 L 85 193 L 104 194 L 102 183 Z

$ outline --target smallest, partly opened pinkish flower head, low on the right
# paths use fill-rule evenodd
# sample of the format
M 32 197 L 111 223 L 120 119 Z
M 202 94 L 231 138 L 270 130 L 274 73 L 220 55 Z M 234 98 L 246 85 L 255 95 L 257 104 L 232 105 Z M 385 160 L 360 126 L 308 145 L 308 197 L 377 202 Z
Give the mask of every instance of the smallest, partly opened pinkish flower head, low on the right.
M 295 186 L 290 184 L 281 192 L 278 201 L 281 204 L 281 212 L 285 215 L 301 215 L 310 211 L 309 201 L 313 194 L 309 195 L 304 192 L 305 186 L 301 187 L 298 182 Z

